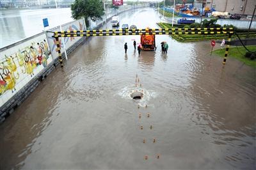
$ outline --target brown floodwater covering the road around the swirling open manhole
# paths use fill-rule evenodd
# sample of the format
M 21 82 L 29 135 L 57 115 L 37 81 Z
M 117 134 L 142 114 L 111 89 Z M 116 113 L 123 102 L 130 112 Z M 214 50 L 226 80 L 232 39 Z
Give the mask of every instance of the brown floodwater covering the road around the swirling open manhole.
M 152 9 L 124 15 L 159 21 Z M 0 169 L 254 169 L 255 70 L 223 66 L 210 42 L 157 35 L 156 52 L 138 56 L 132 39 L 93 37 L 70 54 L 0 125 Z

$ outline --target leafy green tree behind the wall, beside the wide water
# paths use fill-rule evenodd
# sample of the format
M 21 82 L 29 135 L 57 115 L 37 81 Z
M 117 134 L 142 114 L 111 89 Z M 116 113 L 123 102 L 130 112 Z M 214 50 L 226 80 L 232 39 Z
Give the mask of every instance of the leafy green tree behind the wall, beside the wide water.
M 84 17 L 86 26 L 89 26 L 88 17 L 92 20 L 102 19 L 104 15 L 104 4 L 101 0 L 76 0 L 71 4 L 73 19 Z

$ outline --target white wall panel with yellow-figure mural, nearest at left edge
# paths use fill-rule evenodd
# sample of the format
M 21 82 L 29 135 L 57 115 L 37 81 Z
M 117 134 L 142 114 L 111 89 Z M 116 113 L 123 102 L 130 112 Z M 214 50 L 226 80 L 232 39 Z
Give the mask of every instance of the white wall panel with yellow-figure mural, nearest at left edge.
M 52 62 L 44 33 L 0 54 L 0 107 Z

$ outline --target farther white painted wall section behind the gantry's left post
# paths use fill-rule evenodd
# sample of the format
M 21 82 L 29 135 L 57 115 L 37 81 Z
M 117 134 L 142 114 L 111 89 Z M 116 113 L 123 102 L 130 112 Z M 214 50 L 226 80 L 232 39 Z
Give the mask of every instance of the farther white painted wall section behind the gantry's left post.
M 67 24 L 61 25 L 62 31 L 79 31 L 79 30 L 86 30 L 84 20 L 79 19 L 79 20 L 74 20 L 72 22 L 69 22 Z M 54 31 L 60 31 L 60 28 L 56 29 L 51 29 L 52 32 Z M 53 33 L 47 33 L 47 39 L 49 42 L 49 46 L 51 48 L 52 52 L 52 58 L 58 58 L 58 50 L 57 50 L 57 45 L 56 45 L 56 40 L 55 38 L 52 37 Z M 66 49 L 71 47 L 74 43 L 76 43 L 78 40 L 80 40 L 82 37 L 63 37 L 59 38 L 60 45 L 61 45 L 61 53 L 64 52 L 64 45 L 63 42 L 65 43 Z

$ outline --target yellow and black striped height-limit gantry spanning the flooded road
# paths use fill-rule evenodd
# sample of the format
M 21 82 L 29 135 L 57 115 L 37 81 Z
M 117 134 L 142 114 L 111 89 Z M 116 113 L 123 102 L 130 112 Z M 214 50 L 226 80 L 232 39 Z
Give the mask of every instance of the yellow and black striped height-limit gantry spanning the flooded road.
M 73 36 L 116 36 L 116 35 L 228 35 L 227 48 L 223 65 L 225 65 L 228 56 L 228 49 L 230 45 L 230 38 L 234 34 L 232 27 L 205 27 L 205 28 L 166 28 L 166 29 L 95 29 L 95 30 L 80 30 L 80 31 L 55 31 L 52 37 L 56 38 L 57 48 L 61 67 L 63 66 L 60 44 L 58 44 L 59 37 L 73 37 Z

